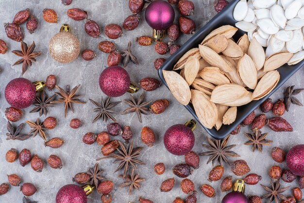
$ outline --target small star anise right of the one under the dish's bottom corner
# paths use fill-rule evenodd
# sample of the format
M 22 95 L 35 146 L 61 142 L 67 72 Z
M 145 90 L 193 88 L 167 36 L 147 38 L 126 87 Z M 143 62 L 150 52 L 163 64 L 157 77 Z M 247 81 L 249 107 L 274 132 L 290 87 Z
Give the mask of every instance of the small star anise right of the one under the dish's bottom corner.
M 253 151 L 257 148 L 263 153 L 263 145 L 271 145 L 272 143 L 272 140 L 266 139 L 268 133 L 261 134 L 261 130 L 253 130 L 253 133 L 245 133 L 245 135 L 249 139 L 245 145 L 252 145 Z

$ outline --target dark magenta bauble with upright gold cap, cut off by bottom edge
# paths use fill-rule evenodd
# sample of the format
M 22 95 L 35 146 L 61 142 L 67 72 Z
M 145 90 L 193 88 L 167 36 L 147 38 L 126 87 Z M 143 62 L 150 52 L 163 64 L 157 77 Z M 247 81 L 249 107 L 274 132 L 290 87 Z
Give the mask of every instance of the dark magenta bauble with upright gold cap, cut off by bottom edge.
M 228 193 L 221 203 L 250 203 L 245 192 L 245 183 L 243 180 L 236 180 L 232 192 Z

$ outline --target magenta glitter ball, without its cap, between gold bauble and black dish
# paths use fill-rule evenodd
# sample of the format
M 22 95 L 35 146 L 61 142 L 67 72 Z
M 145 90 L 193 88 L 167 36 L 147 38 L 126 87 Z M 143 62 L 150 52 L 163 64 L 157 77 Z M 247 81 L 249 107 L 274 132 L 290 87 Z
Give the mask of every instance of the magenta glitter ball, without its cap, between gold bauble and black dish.
M 118 97 L 130 88 L 130 75 L 120 66 L 104 69 L 99 77 L 99 86 L 103 93 L 110 97 Z

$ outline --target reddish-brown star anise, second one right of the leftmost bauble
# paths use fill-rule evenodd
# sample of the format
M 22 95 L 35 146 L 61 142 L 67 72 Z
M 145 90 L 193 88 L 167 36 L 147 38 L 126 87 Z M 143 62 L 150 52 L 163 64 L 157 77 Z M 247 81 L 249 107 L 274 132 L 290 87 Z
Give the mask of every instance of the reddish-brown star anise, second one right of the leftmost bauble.
M 56 85 L 56 88 L 59 90 L 59 92 L 54 92 L 54 93 L 57 94 L 58 96 L 60 96 L 61 98 L 59 98 L 55 101 L 51 101 L 51 104 L 65 103 L 65 117 L 67 117 L 68 108 L 70 108 L 72 110 L 72 112 L 74 113 L 73 103 L 85 104 L 84 101 L 78 99 L 81 95 L 75 94 L 77 92 L 79 86 L 80 85 L 77 85 L 70 92 L 68 85 L 67 85 L 67 91 L 65 91 L 64 89 L 62 89 L 61 87 L 58 87 Z

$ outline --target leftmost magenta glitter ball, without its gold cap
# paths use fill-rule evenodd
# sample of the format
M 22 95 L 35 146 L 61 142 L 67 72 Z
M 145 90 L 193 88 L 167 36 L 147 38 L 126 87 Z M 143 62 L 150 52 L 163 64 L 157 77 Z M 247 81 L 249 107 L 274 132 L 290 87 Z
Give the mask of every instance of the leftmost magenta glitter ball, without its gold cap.
M 17 109 L 25 109 L 34 103 L 36 88 L 30 80 L 19 77 L 7 84 L 4 94 L 9 105 Z

